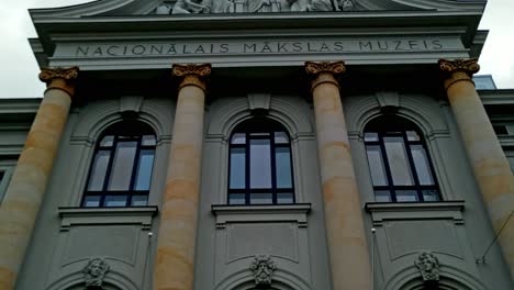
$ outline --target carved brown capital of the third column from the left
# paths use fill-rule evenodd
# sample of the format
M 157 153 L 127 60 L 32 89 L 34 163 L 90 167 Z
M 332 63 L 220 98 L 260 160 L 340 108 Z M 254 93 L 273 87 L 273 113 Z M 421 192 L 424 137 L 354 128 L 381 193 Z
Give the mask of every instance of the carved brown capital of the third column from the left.
M 345 62 L 305 62 L 305 71 L 313 76 L 311 90 L 314 90 L 322 83 L 333 83 L 339 87 L 335 76 L 346 71 Z

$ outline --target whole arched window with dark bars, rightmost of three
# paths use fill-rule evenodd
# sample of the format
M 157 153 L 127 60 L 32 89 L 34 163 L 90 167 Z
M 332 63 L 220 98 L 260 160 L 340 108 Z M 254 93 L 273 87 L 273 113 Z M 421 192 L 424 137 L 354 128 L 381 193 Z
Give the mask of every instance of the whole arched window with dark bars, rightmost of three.
M 440 200 L 422 136 L 416 125 L 398 116 L 381 116 L 366 126 L 366 152 L 377 201 Z

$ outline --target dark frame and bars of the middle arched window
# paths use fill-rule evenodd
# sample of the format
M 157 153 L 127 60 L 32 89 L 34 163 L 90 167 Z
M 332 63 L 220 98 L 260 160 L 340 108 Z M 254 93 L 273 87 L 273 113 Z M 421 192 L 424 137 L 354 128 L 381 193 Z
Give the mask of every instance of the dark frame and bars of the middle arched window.
M 287 143 L 277 143 L 276 133 L 284 133 L 288 142 Z M 245 143 L 244 144 L 234 144 L 233 137 L 236 134 L 244 134 Z M 258 136 L 252 134 L 268 134 L 267 136 Z M 269 153 L 270 153 L 270 178 L 271 187 L 270 188 L 252 188 L 250 180 L 250 146 L 252 142 L 255 140 L 266 140 L 269 141 Z M 234 148 L 244 148 L 245 152 L 245 187 L 244 188 L 231 188 L 232 179 L 232 150 Z M 277 178 L 277 148 L 288 148 L 289 149 L 289 172 L 291 178 L 290 188 L 279 188 L 278 178 Z M 228 142 L 228 178 L 227 178 L 227 200 L 226 203 L 230 205 L 275 205 L 275 204 L 294 204 L 297 203 L 295 190 L 294 190 L 294 167 L 292 158 L 292 146 L 291 146 L 291 136 L 289 132 L 278 122 L 267 119 L 252 119 L 239 124 L 231 134 Z M 234 193 L 244 193 L 245 202 L 244 203 L 231 203 L 231 196 Z M 271 203 L 252 203 L 252 193 L 270 193 Z M 278 202 L 280 193 L 291 193 L 291 202 Z

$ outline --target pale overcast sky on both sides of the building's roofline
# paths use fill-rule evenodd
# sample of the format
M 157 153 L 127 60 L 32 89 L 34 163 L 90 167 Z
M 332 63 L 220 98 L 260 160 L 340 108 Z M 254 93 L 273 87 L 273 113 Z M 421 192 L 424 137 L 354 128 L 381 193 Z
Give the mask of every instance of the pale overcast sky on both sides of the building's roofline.
M 90 0 L 0 0 L 0 98 L 41 97 L 44 86 L 26 38 L 36 36 L 29 8 L 78 4 Z M 489 0 L 480 29 L 490 30 L 480 74 L 493 75 L 499 88 L 514 88 L 514 0 Z

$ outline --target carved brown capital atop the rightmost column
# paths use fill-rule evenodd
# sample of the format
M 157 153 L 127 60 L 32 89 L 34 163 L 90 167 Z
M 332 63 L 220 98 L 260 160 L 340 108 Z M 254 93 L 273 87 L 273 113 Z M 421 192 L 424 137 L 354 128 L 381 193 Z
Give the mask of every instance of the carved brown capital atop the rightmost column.
M 478 58 L 469 59 L 439 59 L 439 69 L 445 72 L 445 89 L 448 89 L 457 81 L 471 81 L 474 86 L 472 77 L 480 70 Z

